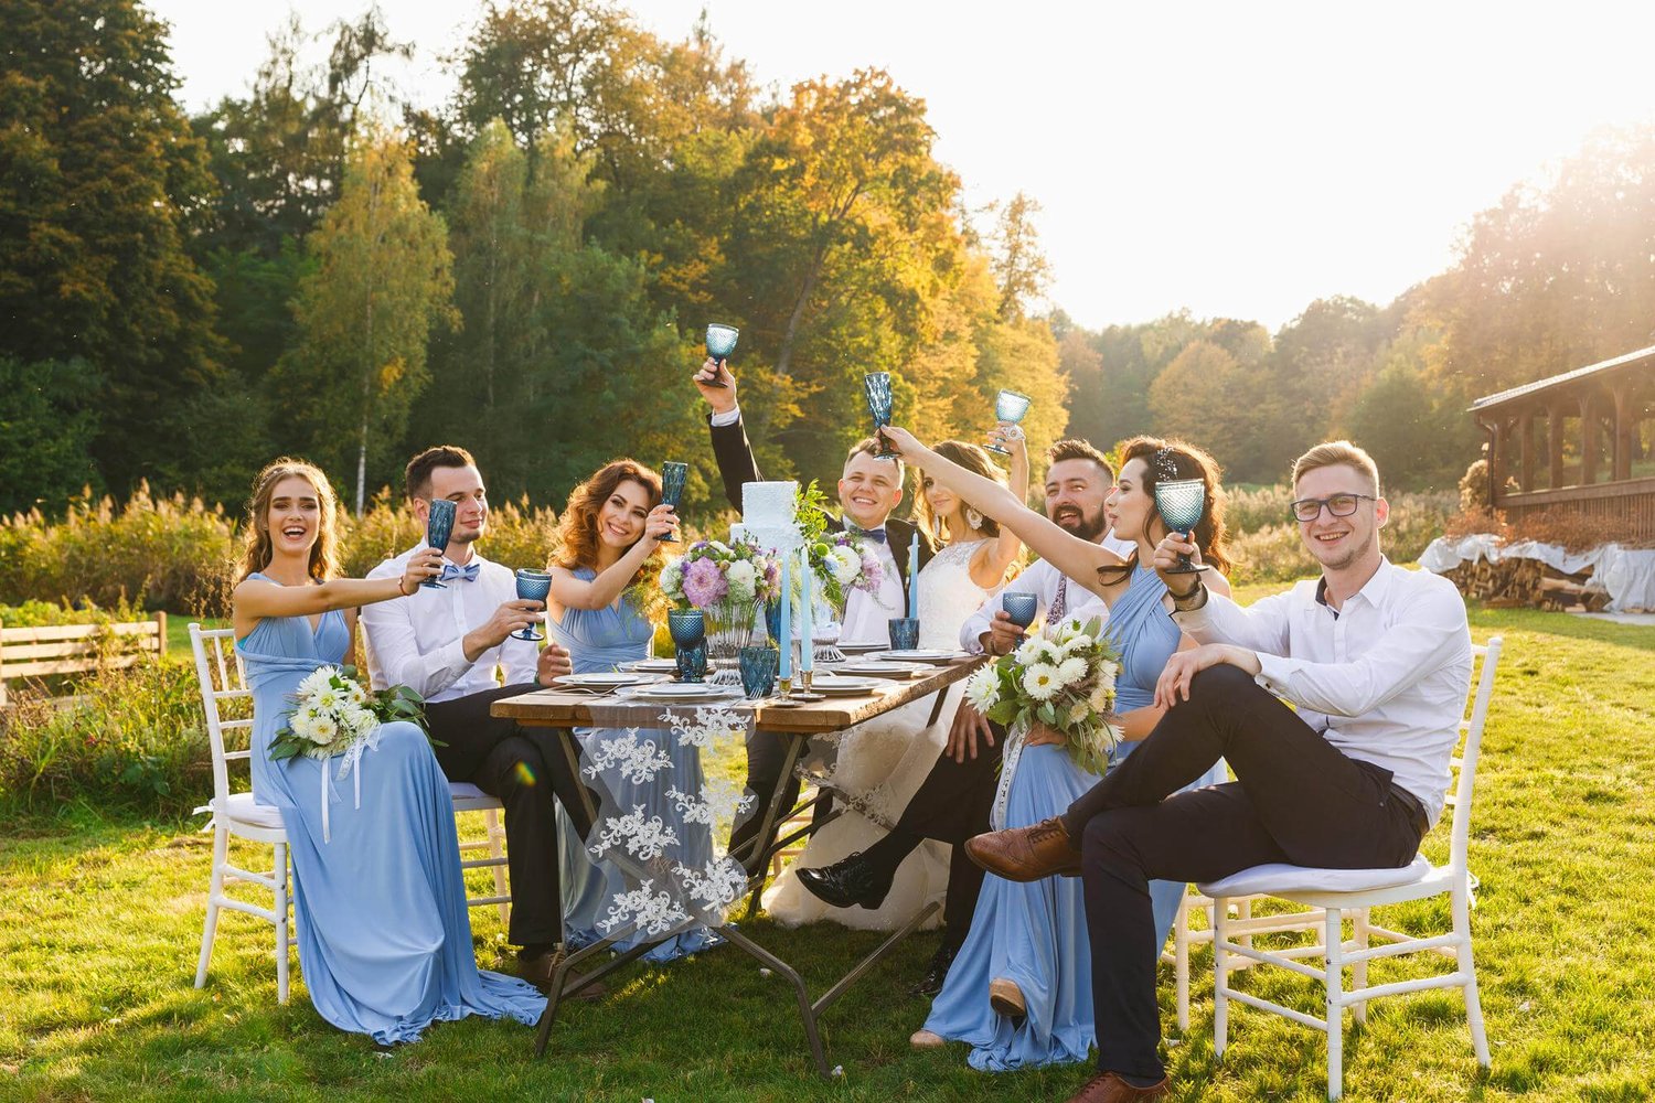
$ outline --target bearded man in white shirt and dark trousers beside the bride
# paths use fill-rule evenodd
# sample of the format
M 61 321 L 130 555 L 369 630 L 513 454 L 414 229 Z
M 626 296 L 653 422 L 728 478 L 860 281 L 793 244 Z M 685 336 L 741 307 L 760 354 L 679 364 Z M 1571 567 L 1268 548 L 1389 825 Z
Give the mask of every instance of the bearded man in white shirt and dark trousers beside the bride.
M 1084 440 L 1059 440 L 1046 453 L 1046 516 L 1056 524 L 1089 541 L 1097 541 L 1130 556 L 1135 546 L 1115 539 L 1104 499 L 1114 486 L 1115 475 L 1097 448 Z M 1036 594 L 1041 617 L 1049 622 L 1063 617 L 1099 617 L 1109 620 L 1109 605 L 1084 585 L 1069 584 L 1046 561 L 1034 562 L 1019 574 L 1003 594 Z M 1001 594 L 983 604 L 960 630 L 960 647 L 973 653 L 1005 655 L 1023 638 L 1005 612 Z M 948 976 L 948 966 L 965 943 L 971 928 L 971 913 L 983 888 L 983 870 L 973 863 L 963 848 L 967 838 L 988 830 L 988 812 L 995 800 L 995 784 L 1000 777 L 1000 751 L 1005 731 L 990 724 L 968 701 L 960 701 L 948 731 L 948 746 L 937 766 L 925 777 L 909 805 L 884 838 L 866 852 L 852 853 L 832 865 L 799 870 L 799 883 L 816 896 L 849 908 L 862 905 L 877 908 L 885 900 L 897 867 L 925 838 L 953 845 L 948 868 L 948 896 L 943 906 L 943 939 L 914 987 L 915 994 L 935 996 Z

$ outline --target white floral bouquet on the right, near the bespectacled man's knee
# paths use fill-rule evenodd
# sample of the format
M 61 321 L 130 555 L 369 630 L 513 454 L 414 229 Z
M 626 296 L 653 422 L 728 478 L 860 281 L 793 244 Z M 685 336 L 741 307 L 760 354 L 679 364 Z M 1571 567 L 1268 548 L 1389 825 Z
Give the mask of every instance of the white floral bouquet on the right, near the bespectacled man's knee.
M 1063 733 L 1076 766 L 1102 774 L 1122 739 L 1114 723 L 1119 655 L 1102 620 L 1079 617 L 1043 625 L 1010 655 L 965 683 L 967 700 L 1015 736 L 1039 723 Z

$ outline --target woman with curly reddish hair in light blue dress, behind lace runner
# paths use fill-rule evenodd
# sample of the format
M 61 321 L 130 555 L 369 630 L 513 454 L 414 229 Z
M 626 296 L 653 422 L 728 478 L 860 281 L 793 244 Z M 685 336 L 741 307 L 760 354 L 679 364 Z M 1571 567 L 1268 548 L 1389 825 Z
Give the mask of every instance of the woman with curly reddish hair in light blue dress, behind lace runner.
M 558 552 L 551 562 L 548 599 L 549 632 L 569 650 L 574 673 L 606 673 L 649 657 L 654 627 L 640 612 L 640 595 L 655 585 L 660 567 L 659 537 L 675 534 L 677 518 L 660 504 L 660 476 L 632 460 L 616 460 L 599 468 L 569 494 L 558 529 Z M 672 547 L 672 544 L 667 544 Z M 591 759 L 597 739 L 621 734 L 612 728 L 576 728 L 576 738 Z M 667 797 L 669 789 L 695 794 L 702 785 L 702 761 L 695 747 L 679 746 L 670 731 L 642 729 L 639 739 L 654 739 L 667 751 L 672 767 L 654 779 L 634 784 L 616 767 L 607 767 L 594 784 L 606 794 L 606 809 L 644 805 L 645 817 L 660 817 L 674 828 L 679 845 L 670 850 L 675 863 L 707 868 L 712 863 L 712 830 L 687 824 Z M 607 936 L 597 926 L 609 916 L 614 898 L 636 885 L 609 862 L 596 862 L 574 827 L 558 809 L 559 875 L 563 883 L 564 944 L 573 951 Z M 599 824 L 604 809 L 599 810 Z M 637 936 L 616 943 L 631 949 Z M 667 962 L 693 954 L 723 939 L 703 926 L 682 931 L 644 954 L 645 961 Z

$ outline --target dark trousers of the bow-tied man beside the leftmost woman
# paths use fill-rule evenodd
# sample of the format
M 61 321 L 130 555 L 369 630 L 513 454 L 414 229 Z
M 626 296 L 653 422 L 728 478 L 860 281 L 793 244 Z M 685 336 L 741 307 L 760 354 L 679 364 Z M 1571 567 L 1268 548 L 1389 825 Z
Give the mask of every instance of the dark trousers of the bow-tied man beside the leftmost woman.
M 584 837 L 591 828 L 581 807 L 579 781 L 571 777 L 558 734 L 490 716 L 500 698 L 530 693 L 520 685 L 483 690 L 452 701 L 429 701 L 437 762 L 449 781 L 467 781 L 496 797 L 506 810 L 506 868 L 511 873 L 511 931 L 515 946 L 563 941 L 563 895 L 558 883 L 558 815 L 563 800 Z

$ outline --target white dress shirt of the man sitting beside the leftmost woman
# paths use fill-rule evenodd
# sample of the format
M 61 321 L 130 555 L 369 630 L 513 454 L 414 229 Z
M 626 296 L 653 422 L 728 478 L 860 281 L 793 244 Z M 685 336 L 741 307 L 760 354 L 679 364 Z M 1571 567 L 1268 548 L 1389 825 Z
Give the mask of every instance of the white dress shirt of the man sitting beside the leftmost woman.
M 369 579 L 394 579 L 424 544 L 387 559 Z M 477 579 L 450 579 L 447 589 L 420 587 L 412 597 L 362 605 L 367 676 L 376 690 L 405 685 L 427 701 L 450 701 L 501 685 L 535 681 L 540 647 L 506 638 L 477 661 L 465 658 L 465 633 L 482 625 L 505 602 L 516 599 L 516 575 L 472 551 Z M 470 566 L 470 564 L 467 564 Z M 498 681 L 495 668 L 505 670 Z

